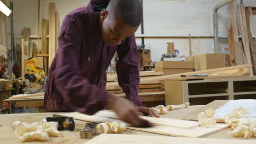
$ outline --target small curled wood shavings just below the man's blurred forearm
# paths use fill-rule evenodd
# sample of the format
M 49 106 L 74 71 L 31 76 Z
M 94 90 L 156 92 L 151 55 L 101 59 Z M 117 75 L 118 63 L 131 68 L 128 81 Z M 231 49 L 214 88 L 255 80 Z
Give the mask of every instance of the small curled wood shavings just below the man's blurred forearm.
M 126 129 L 125 123 L 118 123 L 118 122 L 112 122 L 112 123 L 99 123 L 96 125 L 96 130 L 98 131 L 98 134 L 117 134 L 121 133 Z

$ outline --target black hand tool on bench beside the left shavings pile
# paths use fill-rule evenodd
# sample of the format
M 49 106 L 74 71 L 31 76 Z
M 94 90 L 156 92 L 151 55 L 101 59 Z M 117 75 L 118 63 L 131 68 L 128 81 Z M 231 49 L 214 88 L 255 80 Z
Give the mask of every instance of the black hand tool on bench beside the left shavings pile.
M 65 117 L 53 115 L 53 117 L 46 117 L 47 122 L 58 122 L 59 127 L 57 130 L 71 130 L 73 131 L 75 128 L 75 122 L 73 117 Z

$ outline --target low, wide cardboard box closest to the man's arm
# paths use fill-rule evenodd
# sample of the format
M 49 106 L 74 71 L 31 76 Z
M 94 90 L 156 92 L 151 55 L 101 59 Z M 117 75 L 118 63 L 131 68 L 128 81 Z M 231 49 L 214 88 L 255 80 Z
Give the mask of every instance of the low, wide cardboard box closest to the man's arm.
M 188 73 L 193 71 L 193 62 L 161 61 L 155 63 L 155 71 L 164 71 L 164 75 Z

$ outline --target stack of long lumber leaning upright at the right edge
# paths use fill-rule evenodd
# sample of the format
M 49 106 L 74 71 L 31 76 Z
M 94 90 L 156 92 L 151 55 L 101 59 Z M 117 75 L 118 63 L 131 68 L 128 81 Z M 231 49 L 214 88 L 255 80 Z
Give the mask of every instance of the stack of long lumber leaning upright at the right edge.
M 252 56 L 254 52 L 256 52 L 254 46 L 255 42 L 252 38 L 251 30 L 249 28 L 249 15 L 251 15 L 251 21 L 254 26 L 254 33 L 256 33 L 252 8 L 251 6 L 245 8 L 244 4 L 234 5 L 233 2 L 229 4 L 229 13 L 231 25 L 228 29 L 228 41 L 231 66 L 241 64 L 254 64 L 256 59 Z M 241 41 L 238 39 L 238 35 L 241 35 Z M 249 74 L 256 74 L 255 65 L 253 68 L 249 69 Z

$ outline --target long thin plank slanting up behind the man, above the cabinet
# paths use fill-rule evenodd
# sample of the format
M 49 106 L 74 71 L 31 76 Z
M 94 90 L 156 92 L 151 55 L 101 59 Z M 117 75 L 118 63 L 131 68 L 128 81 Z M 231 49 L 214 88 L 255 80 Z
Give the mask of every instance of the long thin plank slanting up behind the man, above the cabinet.
M 201 70 L 201 71 L 194 71 L 189 73 L 182 73 L 182 74 L 174 74 L 174 75 L 165 75 L 165 76 L 156 76 L 156 77 L 150 77 L 148 79 L 141 79 L 141 82 L 150 82 L 150 81 L 160 81 L 160 80 L 167 80 L 172 77 L 180 77 L 181 75 L 193 75 L 193 74 L 212 74 L 212 73 L 218 73 L 220 71 L 225 70 L 235 70 L 235 69 L 241 69 L 241 68 L 251 68 L 251 64 L 246 65 L 237 65 L 233 67 L 226 67 L 226 68 L 218 68 L 218 69 L 208 69 L 208 70 Z M 107 86 L 119 86 L 118 82 L 115 83 L 109 83 Z

